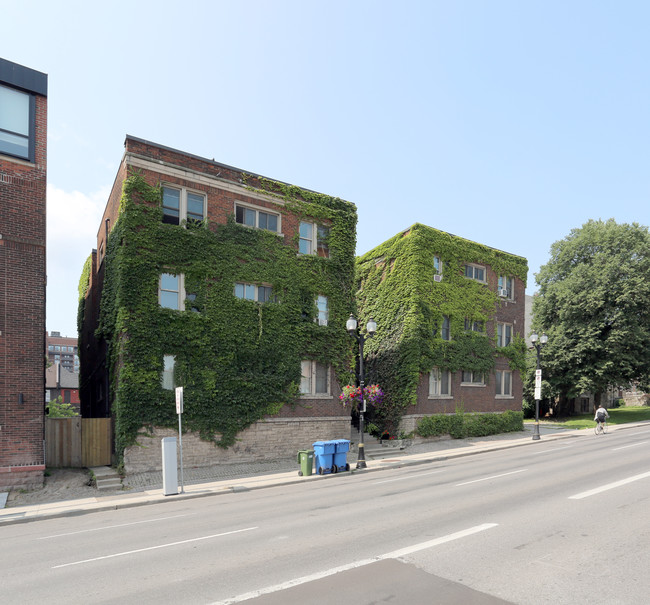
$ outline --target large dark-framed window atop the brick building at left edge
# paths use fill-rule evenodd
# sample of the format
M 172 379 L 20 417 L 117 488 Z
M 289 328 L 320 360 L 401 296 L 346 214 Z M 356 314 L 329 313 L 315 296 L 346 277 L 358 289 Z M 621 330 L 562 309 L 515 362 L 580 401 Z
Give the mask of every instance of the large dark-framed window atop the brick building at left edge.
M 36 99 L 0 85 L 0 153 L 34 161 Z

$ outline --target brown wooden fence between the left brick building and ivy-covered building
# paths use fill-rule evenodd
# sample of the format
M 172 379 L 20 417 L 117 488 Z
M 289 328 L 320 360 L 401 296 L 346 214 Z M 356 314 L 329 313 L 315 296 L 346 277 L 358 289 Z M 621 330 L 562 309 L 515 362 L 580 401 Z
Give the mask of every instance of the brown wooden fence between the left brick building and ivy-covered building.
M 82 468 L 112 462 L 111 418 L 46 418 L 45 464 Z

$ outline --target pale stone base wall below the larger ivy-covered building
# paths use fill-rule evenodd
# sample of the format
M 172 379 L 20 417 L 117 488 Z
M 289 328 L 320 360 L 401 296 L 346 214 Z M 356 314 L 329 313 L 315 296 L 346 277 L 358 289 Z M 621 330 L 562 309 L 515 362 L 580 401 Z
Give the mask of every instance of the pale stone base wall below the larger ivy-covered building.
M 141 431 L 144 433 L 144 429 Z M 163 437 L 178 431 L 156 428 L 151 436 L 138 437 L 138 444 L 124 450 L 126 474 L 162 469 Z M 236 462 L 258 462 L 296 456 L 311 449 L 314 441 L 350 438 L 350 417 L 278 418 L 256 422 L 237 436 L 228 449 L 203 441 L 196 433 L 183 434 L 183 466 L 201 467 Z

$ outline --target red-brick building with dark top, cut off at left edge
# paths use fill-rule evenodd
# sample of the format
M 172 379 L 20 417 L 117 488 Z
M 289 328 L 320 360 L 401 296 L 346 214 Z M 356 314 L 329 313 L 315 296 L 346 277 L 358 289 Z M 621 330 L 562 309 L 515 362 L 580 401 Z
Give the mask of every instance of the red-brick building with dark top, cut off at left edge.
M 47 75 L 0 59 L 0 489 L 42 485 Z

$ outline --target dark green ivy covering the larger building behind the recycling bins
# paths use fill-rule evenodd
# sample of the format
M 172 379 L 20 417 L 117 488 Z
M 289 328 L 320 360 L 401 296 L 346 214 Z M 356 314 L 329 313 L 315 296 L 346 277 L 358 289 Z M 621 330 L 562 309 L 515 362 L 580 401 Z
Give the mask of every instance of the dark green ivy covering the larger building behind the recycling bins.
M 164 224 L 161 188 L 135 173 L 125 181 L 96 332 L 110 342 L 120 456 L 143 426 L 176 426 L 174 393 L 161 385 L 164 355 L 175 356 L 175 381 L 184 386 L 184 428 L 222 447 L 283 405 L 300 405 L 302 359 L 331 364 L 339 382 L 349 381 L 345 319 L 353 309 L 356 208 L 272 181 L 256 189 L 284 197 L 281 212 L 325 221 L 330 258 L 298 255 L 277 234 L 234 217 L 219 225 Z M 162 273 L 185 276 L 185 292 L 195 295 L 187 310 L 159 306 Z M 238 299 L 235 282 L 270 285 L 277 302 Z M 327 326 L 314 322 L 319 294 L 328 297 Z

